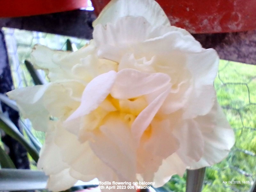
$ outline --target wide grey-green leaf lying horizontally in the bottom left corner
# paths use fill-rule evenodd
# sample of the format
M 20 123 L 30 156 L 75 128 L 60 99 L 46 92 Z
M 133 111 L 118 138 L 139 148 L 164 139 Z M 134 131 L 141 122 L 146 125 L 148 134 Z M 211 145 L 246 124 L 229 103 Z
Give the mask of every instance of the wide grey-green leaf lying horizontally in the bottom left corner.
M 48 177 L 42 171 L 0 169 L 0 191 L 45 189 Z

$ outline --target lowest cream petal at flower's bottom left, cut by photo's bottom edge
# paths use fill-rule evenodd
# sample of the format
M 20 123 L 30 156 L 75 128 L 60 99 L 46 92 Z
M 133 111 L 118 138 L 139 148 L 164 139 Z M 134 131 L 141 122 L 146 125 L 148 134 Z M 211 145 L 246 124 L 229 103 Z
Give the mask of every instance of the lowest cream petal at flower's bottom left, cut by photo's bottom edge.
M 58 174 L 50 175 L 47 183 L 47 189 L 53 192 L 65 191 L 77 182 L 69 174 L 69 169 L 65 169 Z

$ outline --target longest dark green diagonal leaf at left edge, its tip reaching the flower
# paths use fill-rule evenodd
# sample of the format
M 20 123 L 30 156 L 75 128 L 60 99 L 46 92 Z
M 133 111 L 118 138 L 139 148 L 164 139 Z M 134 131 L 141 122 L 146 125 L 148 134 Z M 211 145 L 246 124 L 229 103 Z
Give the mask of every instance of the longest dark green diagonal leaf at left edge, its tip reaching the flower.
M 39 159 L 39 154 L 35 147 L 31 145 L 31 143 L 26 141 L 25 137 L 19 132 L 18 128 L 14 125 L 14 123 L 11 122 L 9 118 L 5 117 L 3 113 L 0 114 L 0 119 L 0 128 L 2 128 L 7 135 L 21 143 L 21 145 L 25 147 L 27 152 L 34 159 L 34 161 L 37 162 Z

